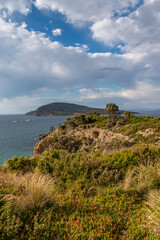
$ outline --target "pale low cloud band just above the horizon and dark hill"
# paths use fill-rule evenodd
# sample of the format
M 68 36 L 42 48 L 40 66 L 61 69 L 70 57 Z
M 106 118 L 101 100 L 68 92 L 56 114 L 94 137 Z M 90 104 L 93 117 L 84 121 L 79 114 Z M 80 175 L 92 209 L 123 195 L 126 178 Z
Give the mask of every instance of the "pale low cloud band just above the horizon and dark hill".
M 108 88 L 81 88 L 80 97 L 68 93 L 63 97 L 39 97 L 38 95 L 3 98 L 0 100 L 0 112 L 26 113 L 41 105 L 51 102 L 70 102 L 92 107 L 105 107 L 108 102 L 115 102 L 120 109 L 153 107 L 159 108 L 160 87 L 150 81 L 138 82 L 134 88 L 119 91 Z M 68 96 L 67 96 L 68 95 Z M 149 97 L 148 97 L 149 96 Z M 134 101 L 134 103 L 133 103 Z M 25 106 L 25 107 L 24 107 Z

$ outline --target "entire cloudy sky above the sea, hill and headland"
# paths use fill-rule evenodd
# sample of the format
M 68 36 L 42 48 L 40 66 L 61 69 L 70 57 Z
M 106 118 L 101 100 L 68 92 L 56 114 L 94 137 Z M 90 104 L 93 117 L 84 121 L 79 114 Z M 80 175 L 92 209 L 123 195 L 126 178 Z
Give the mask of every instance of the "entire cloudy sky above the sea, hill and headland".
M 0 114 L 160 109 L 160 0 L 0 0 Z

